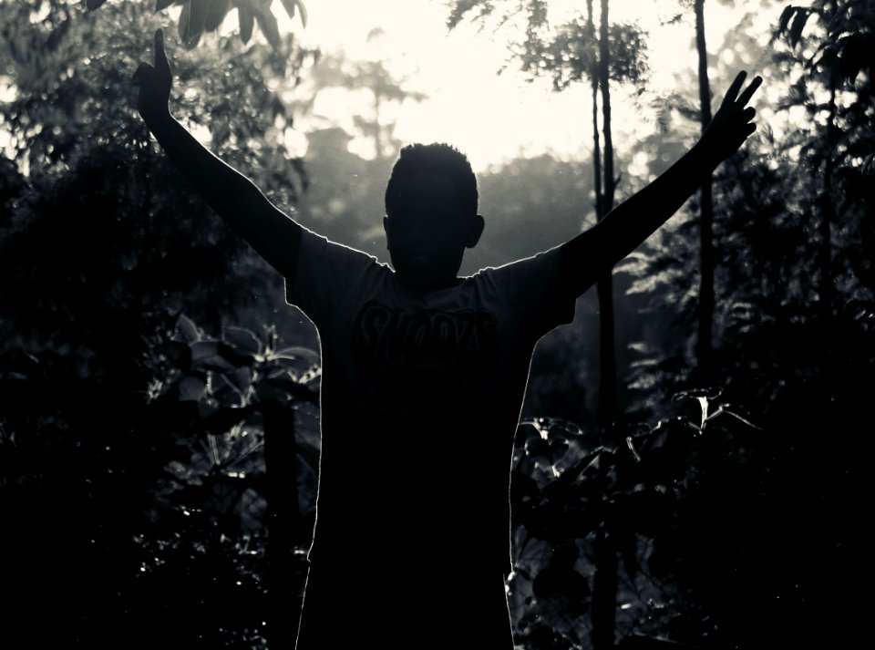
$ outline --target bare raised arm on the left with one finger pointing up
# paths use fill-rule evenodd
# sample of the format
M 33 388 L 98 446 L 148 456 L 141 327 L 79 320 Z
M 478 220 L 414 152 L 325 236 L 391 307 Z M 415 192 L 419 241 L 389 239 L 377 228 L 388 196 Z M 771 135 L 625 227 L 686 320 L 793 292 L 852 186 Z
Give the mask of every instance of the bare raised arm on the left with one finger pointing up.
M 212 210 L 274 269 L 286 278 L 293 278 L 302 227 L 268 201 L 252 181 L 203 147 L 170 115 L 172 78 L 164 52 L 164 36 L 158 30 L 155 65 L 141 63 L 133 78 L 139 86 L 140 116 Z

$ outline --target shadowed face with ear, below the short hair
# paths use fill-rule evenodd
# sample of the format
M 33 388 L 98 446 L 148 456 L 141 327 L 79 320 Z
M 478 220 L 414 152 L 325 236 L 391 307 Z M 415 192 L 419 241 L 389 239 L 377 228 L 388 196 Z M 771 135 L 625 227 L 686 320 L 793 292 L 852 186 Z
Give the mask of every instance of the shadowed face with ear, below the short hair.
M 407 185 L 383 225 L 398 279 L 423 289 L 455 284 L 465 249 L 483 229 L 482 218 L 464 212 L 451 181 L 426 175 Z

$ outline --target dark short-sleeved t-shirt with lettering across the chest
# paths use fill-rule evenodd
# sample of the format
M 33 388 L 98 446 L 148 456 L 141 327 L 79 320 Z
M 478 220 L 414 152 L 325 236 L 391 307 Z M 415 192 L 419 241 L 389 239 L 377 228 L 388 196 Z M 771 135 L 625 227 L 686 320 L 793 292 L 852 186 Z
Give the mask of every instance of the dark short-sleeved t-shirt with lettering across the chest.
M 573 318 L 559 249 L 430 291 L 304 230 L 287 300 L 322 346 L 311 562 L 510 570 L 510 459 L 541 335 Z M 387 564 L 386 564 L 387 565 Z

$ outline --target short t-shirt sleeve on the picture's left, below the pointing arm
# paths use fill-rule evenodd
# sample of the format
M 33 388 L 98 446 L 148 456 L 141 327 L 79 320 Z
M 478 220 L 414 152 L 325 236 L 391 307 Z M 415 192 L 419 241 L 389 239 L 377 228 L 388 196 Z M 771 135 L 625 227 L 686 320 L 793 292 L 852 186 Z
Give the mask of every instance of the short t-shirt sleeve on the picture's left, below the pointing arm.
M 376 258 L 367 253 L 304 228 L 294 279 L 286 279 L 285 300 L 299 307 L 318 327 L 348 302 L 350 292 L 365 273 L 378 266 Z

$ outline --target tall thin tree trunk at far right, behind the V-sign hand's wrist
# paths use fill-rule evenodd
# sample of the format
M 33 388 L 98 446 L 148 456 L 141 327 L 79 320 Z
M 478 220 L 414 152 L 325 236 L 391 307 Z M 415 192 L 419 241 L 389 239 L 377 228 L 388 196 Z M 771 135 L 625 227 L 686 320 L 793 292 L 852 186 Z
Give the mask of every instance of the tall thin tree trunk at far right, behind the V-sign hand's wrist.
M 702 132 L 711 123 L 711 88 L 708 83 L 708 51 L 705 47 L 705 0 L 695 0 L 695 48 L 699 55 L 699 115 Z M 699 284 L 699 332 L 695 346 L 699 380 L 713 380 L 712 336 L 714 331 L 714 204 L 711 176 L 702 183 L 699 216 L 701 275 Z

